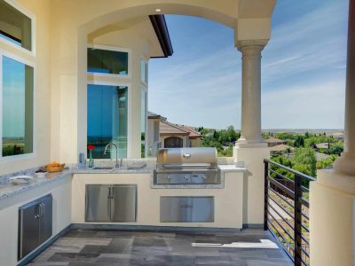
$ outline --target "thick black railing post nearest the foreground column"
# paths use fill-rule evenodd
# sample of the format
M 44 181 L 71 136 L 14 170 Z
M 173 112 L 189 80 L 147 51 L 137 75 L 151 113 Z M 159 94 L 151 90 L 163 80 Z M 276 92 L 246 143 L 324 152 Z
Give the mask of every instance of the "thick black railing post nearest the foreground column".
M 302 176 L 295 175 L 295 265 L 302 265 Z

